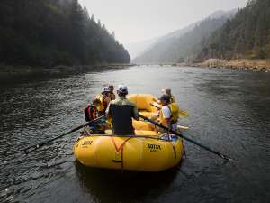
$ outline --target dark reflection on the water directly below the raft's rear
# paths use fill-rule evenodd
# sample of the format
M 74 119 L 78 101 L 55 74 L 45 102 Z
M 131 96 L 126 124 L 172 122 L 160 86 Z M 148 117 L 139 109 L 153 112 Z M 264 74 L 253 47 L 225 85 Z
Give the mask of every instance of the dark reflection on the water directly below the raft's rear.
M 100 202 L 108 203 L 148 202 L 147 199 L 157 199 L 166 193 L 177 174 L 176 169 L 150 173 L 89 169 L 78 161 L 75 165 L 81 187 Z

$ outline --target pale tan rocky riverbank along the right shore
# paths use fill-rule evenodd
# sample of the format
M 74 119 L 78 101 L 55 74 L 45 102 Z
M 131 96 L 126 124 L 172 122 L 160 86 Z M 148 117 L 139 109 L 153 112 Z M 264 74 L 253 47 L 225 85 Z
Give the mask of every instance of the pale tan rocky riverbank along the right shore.
M 175 65 L 175 64 L 174 64 Z M 267 60 L 219 60 L 209 59 L 201 63 L 180 63 L 176 66 L 191 66 L 202 68 L 251 69 L 255 71 L 270 71 L 270 59 Z

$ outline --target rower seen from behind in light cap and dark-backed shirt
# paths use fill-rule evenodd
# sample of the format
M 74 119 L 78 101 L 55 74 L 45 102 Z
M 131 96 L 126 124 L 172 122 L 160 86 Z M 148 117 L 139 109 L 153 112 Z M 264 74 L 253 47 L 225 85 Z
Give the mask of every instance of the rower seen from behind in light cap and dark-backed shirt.
M 117 135 L 135 134 L 132 118 L 139 120 L 137 107 L 126 98 L 128 88 L 120 85 L 117 89 L 118 97 L 112 100 L 106 110 L 107 119 L 112 118 L 112 133 Z

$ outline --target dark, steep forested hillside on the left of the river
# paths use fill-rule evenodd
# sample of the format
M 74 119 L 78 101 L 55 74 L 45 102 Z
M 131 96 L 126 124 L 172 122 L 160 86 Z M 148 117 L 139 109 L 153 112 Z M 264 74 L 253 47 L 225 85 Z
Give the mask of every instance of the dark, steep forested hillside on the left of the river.
M 0 63 L 101 62 L 128 63 L 130 55 L 77 0 L 0 1 Z

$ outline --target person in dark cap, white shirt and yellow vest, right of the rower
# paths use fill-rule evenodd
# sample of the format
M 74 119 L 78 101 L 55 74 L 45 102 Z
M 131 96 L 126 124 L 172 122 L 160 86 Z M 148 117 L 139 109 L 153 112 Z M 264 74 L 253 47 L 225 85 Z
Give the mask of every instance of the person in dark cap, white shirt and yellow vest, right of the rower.
M 160 103 L 162 105 L 159 116 L 157 118 L 161 125 L 165 125 L 169 130 L 177 130 L 177 121 L 173 120 L 173 115 L 170 109 L 170 97 L 166 94 L 162 95 L 160 98 Z

